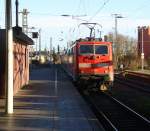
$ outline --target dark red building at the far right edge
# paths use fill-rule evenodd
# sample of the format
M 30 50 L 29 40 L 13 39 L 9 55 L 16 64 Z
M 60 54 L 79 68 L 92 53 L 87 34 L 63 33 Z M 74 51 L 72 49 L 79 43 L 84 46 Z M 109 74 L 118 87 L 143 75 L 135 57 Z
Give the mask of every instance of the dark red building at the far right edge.
M 147 59 L 150 57 L 150 27 L 142 26 L 138 27 L 138 54 L 142 53 L 142 31 L 143 31 L 143 52 L 144 57 Z

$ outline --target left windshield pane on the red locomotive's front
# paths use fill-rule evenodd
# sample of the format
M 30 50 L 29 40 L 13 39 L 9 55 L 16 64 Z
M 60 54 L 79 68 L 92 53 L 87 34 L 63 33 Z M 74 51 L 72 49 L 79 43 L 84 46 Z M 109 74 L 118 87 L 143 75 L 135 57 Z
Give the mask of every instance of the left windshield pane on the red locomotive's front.
M 80 54 L 94 54 L 93 45 L 80 45 Z

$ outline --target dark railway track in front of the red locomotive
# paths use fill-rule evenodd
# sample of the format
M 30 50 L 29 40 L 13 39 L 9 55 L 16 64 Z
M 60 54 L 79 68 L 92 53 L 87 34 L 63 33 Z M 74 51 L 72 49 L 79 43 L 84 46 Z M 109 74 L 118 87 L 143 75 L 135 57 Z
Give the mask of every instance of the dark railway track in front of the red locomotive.
M 105 93 L 90 92 L 84 98 L 90 103 L 106 131 L 149 131 L 150 121 Z

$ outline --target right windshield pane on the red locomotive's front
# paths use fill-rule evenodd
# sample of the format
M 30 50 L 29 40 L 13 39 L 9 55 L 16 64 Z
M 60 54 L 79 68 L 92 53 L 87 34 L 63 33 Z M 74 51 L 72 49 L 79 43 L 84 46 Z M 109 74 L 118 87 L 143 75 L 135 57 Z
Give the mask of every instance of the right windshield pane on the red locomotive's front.
M 108 54 L 108 47 L 105 45 L 96 45 L 95 54 Z

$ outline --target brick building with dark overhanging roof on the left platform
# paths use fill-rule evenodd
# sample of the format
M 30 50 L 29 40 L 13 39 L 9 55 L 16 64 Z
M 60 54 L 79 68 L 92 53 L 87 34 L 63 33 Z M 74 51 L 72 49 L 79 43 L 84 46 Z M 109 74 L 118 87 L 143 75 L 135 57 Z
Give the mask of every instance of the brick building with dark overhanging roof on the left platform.
M 5 95 L 6 30 L 0 29 L 0 97 Z M 22 32 L 22 28 L 13 28 L 14 50 L 14 94 L 29 81 L 29 45 L 33 41 Z

